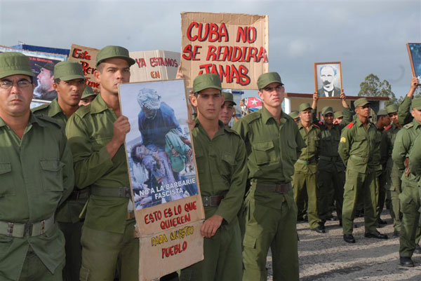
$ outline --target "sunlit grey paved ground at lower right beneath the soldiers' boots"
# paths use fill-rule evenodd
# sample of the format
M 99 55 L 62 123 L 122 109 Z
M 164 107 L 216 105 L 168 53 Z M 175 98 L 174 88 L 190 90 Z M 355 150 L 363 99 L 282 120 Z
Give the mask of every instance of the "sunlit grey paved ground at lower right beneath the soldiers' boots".
M 326 223 L 327 233 L 319 234 L 309 230 L 308 223 L 299 223 L 298 256 L 300 260 L 301 281 L 420 281 L 421 254 L 415 254 L 415 267 L 399 266 L 399 238 L 392 235 L 392 219 L 387 210 L 382 219 L 387 226 L 379 228 L 381 233 L 389 236 L 388 240 L 364 238 L 363 218 L 355 220 L 355 244 L 342 240 L 342 228 L 338 221 Z M 269 254 L 267 267 L 272 280 L 272 259 Z

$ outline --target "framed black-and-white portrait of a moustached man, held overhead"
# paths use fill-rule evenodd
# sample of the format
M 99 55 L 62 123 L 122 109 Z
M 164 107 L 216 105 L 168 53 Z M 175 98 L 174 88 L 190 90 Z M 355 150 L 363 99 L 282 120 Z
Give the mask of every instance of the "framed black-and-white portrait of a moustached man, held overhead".
M 342 90 L 340 62 L 315 62 L 314 83 L 319 97 L 340 97 Z

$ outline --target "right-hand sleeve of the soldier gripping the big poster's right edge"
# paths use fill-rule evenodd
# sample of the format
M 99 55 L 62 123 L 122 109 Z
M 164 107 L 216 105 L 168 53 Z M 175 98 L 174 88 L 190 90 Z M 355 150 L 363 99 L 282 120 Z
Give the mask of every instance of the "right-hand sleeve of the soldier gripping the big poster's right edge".
M 236 217 L 241 204 L 243 203 L 248 176 L 246 159 L 246 146 L 244 145 L 244 142 L 239 139 L 235 156 L 235 165 L 231 175 L 231 185 L 229 186 L 229 191 L 225 194 L 224 199 L 222 199 L 218 206 L 218 210 L 215 212 L 215 214 L 219 214 L 223 217 L 228 224 Z

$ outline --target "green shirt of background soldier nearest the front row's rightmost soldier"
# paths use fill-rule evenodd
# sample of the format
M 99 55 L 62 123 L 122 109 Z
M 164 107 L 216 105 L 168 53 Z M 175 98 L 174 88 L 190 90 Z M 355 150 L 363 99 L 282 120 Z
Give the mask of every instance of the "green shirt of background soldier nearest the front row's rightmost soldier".
M 300 157 L 295 163 L 295 172 L 314 174 L 317 170 L 315 163 L 319 158 L 321 130 L 318 125 L 311 124 L 310 129 L 304 128 L 302 123 L 298 124 L 298 131 L 306 144 L 301 150 Z M 314 163 L 314 165 L 309 165 Z

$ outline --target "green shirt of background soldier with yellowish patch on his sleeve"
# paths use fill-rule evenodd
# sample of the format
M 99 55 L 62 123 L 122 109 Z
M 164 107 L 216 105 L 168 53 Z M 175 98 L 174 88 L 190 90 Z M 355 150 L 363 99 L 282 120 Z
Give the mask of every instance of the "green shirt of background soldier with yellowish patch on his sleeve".
M 349 170 L 366 174 L 378 172 L 380 165 L 381 133 L 374 123 L 367 122 L 367 128 L 357 117 L 349 123 L 340 137 L 338 152 Z

